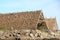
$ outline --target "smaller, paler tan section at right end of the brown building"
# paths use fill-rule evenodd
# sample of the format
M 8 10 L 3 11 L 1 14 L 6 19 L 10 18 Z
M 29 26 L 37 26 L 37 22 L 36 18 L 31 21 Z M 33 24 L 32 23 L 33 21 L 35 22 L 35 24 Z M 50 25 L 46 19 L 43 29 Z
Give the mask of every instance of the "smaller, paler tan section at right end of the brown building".
M 45 22 L 49 30 L 53 30 L 53 31 L 58 30 L 56 18 L 45 19 Z

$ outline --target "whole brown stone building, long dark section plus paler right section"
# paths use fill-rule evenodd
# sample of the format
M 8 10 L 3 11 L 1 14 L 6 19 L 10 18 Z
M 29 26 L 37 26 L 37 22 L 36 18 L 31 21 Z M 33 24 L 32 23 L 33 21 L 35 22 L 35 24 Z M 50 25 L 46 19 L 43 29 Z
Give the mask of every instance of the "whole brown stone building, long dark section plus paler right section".
M 37 29 L 43 27 L 49 30 L 57 30 L 57 23 L 55 18 L 45 19 L 43 12 L 17 12 L 9 14 L 0 14 L 0 28 L 6 27 L 12 29 Z

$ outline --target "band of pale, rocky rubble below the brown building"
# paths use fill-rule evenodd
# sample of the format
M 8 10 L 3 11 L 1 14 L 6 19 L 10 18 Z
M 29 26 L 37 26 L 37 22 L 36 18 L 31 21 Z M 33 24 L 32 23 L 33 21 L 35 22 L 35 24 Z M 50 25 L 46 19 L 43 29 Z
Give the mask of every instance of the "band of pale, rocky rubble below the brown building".
M 60 38 L 60 32 L 48 32 L 40 30 L 11 30 L 11 31 L 0 31 L 0 39 L 50 39 Z

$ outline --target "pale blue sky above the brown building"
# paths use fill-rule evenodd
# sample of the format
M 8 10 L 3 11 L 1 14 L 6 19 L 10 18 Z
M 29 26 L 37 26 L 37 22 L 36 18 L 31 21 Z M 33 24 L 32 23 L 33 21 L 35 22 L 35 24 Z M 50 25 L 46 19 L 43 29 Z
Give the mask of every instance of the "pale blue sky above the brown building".
M 45 17 L 56 17 L 60 29 L 60 0 L 0 0 L 0 13 L 42 10 Z

